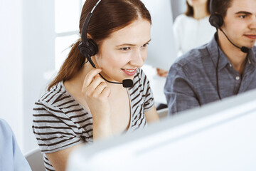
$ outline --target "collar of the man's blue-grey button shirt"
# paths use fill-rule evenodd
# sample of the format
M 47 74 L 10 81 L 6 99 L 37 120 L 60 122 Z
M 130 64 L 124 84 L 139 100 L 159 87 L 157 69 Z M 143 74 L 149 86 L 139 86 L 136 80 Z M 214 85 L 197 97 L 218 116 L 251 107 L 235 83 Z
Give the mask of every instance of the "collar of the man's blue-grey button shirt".
M 208 48 L 208 53 L 210 55 L 210 58 L 212 58 L 213 62 L 215 63 L 215 66 L 218 61 L 218 43 L 217 43 L 217 33 L 214 34 L 212 40 L 208 43 L 207 48 Z M 218 63 L 218 71 L 223 69 L 227 65 L 232 65 L 228 59 L 227 56 L 223 53 L 221 48 L 219 48 L 220 51 L 220 59 Z M 253 66 L 256 67 L 256 56 L 255 56 L 255 51 L 252 51 L 252 48 L 250 48 L 249 53 L 247 55 L 247 62 L 249 64 L 252 64 Z

